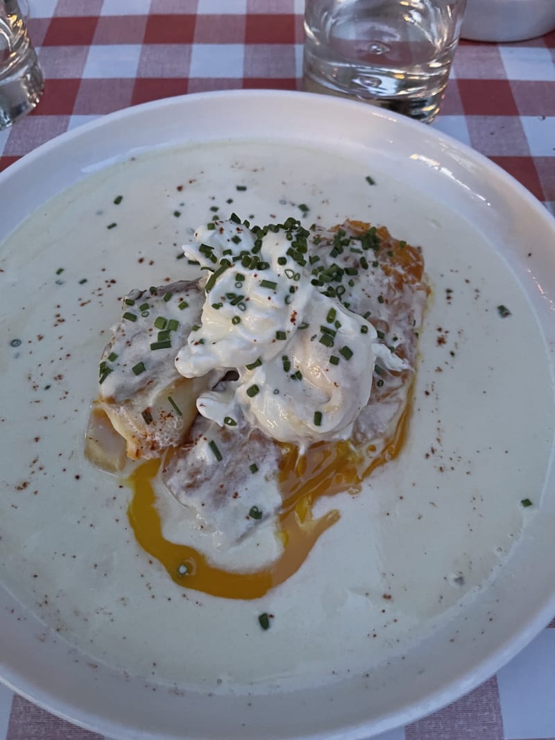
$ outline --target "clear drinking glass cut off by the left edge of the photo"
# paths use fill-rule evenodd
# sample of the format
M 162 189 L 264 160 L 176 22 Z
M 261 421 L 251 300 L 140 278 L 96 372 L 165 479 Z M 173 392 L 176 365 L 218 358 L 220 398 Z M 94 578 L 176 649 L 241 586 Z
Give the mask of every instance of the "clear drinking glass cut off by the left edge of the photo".
M 17 0 L 0 0 L 0 129 L 36 107 L 44 78 Z

